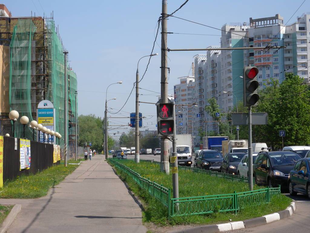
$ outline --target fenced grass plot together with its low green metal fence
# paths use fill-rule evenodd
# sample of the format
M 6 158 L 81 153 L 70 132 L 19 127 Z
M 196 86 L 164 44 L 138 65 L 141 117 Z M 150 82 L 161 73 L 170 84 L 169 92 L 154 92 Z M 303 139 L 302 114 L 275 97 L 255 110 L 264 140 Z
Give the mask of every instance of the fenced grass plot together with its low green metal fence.
M 131 173 L 136 173 L 132 175 L 128 169 L 116 164 L 116 160 L 109 159 L 108 162 L 142 199 L 146 222 L 161 225 L 236 222 L 284 210 L 291 202 L 280 194 L 279 188 L 268 190 L 255 185 L 251 192 L 245 182 L 188 169 L 179 169 L 179 199 L 175 200 L 172 198 L 172 172 L 169 175 L 161 172 L 158 163 L 117 160 L 133 170 Z M 170 198 L 163 202 L 168 197 L 166 190 L 169 190 Z

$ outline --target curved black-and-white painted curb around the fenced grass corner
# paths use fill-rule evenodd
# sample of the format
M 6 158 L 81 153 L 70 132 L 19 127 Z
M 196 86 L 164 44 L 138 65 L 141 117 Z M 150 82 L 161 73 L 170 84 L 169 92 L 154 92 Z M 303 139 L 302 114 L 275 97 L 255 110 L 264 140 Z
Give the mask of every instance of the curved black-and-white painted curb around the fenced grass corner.
M 290 217 L 295 212 L 295 209 L 296 209 L 295 202 L 291 202 L 290 206 L 287 207 L 285 210 L 272 213 L 272 214 L 267 214 L 262 217 L 247 219 L 247 220 L 238 221 L 238 222 L 222 223 L 222 224 L 217 224 L 217 225 L 197 226 L 197 227 L 193 227 L 189 229 L 172 231 L 171 233 L 202 233 L 202 232 L 203 233 L 216 233 L 216 232 L 250 228 L 250 227 L 265 225 L 270 222 L 274 222 L 274 221 L 278 221 L 286 217 Z

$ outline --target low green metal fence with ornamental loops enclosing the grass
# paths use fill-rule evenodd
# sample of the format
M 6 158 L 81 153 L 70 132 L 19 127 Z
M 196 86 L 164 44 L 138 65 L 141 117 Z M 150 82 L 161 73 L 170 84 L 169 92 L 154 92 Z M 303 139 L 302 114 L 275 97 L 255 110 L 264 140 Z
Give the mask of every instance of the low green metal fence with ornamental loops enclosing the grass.
M 163 185 L 159 185 L 154 181 L 143 178 L 137 172 L 122 164 L 123 162 L 126 164 L 125 160 L 118 161 L 116 159 L 109 158 L 109 162 L 111 162 L 117 169 L 120 169 L 126 174 L 128 174 L 139 185 L 139 187 L 148 191 L 150 195 L 158 199 L 163 205 L 168 208 L 169 219 L 176 216 L 208 214 L 214 212 L 234 211 L 235 213 L 237 213 L 238 210 L 246 207 L 247 205 L 259 205 L 263 203 L 269 203 L 273 195 L 280 194 L 281 192 L 279 185 L 279 187 L 277 188 L 267 187 L 259 190 L 240 193 L 234 191 L 234 193 L 231 194 L 171 198 L 170 189 L 164 187 Z M 159 162 L 155 163 L 159 164 Z M 183 166 L 179 166 L 179 169 L 206 173 L 210 176 L 226 178 L 233 181 L 248 182 L 247 177 L 233 176 L 220 172 L 207 171 L 198 168 Z

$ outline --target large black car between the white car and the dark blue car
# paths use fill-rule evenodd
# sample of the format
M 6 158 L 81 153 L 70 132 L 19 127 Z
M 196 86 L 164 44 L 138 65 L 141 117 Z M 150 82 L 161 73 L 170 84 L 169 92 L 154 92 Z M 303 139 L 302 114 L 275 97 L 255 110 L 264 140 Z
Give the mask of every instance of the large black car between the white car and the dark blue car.
M 290 170 L 301 156 L 293 151 L 262 151 L 253 162 L 253 176 L 256 184 L 287 188 Z

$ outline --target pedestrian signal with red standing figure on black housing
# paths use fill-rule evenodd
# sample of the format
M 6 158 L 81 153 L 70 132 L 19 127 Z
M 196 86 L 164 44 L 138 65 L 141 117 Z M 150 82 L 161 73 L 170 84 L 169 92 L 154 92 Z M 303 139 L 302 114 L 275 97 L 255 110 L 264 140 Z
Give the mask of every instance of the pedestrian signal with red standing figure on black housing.
M 173 120 L 173 103 L 157 104 L 157 132 L 158 136 L 173 136 L 174 120 Z

